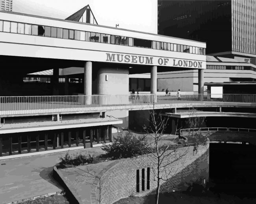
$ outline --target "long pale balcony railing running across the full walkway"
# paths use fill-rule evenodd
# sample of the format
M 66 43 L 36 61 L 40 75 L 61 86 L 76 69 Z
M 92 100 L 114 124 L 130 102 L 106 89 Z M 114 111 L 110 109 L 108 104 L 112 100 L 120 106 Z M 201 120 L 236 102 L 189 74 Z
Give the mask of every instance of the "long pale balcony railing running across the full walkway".
M 217 98 L 219 97 L 219 98 Z M 178 106 L 222 106 L 256 103 L 250 94 L 195 94 L 195 95 L 93 95 L 93 96 L 2 96 L 0 116 L 18 114 L 44 114 L 56 112 L 86 112 L 118 109 L 169 108 Z

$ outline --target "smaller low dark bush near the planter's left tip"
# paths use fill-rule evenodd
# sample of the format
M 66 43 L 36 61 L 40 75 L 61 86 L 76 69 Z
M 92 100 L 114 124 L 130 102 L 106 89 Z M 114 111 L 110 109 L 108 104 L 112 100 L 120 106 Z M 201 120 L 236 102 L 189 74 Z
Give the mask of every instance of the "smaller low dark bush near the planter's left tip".
M 62 167 L 65 167 L 66 165 L 74 165 L 78 166 L 81 164 L 86 164 L 86 163 L 93 163 L 93 157 L 91 157 L 90 154 L 82 155 L 78 154 L 74 158 L 70 157 L 69 152 L 65 154 L 65 157 L 62 158 L 60 157 L 61 162 L 59 163 Z

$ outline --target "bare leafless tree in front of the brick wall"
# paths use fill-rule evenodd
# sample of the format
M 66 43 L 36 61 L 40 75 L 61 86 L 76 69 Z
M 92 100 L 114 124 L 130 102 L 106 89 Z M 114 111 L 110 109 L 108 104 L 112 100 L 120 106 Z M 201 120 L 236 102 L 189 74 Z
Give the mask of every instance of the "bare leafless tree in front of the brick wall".
M 176 162 L 180 158 L 186 155 L 188 148 L 184 153 L 177 156 L 174 154 L 178 145 L 171 145 L 166 144 L 163 138 L 163 134 L 165 129 L 167 128 L 168 124 L 168 117 L 163 117 L 161 114 L 158 114 L 155 117 L 154 109 L 150 112 L 151 125 L 149 127 L 145 126 L 145 131 L 147 135 L 151 137 L 152 141 L 148 142 L 148 158 L 151 162 L 156 166 L 152 168 L 154 177 L 157 180 L 157 188 L 156 188 L 156 195 L 155 195 L 155 203 L 158 204 L 159 200 L 159 193 L 160 193 L 160 180 L 167 181 L 169 175 L 172 172 L 172 169 L 169 169 L 168 166 L 172 163 Z

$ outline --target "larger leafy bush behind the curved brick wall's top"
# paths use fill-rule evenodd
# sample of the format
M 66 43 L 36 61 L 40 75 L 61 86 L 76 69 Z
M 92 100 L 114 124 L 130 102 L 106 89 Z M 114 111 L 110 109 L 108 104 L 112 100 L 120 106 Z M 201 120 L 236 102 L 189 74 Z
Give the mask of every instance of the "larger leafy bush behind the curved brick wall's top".
M 112 143 L 113 145 L 102 147 L 111 159 L 130 158 L 148 153 L 145 136 L 136 138 L 132 133 L 127 132 L 124 137 L 121 134 L 114 137 Z

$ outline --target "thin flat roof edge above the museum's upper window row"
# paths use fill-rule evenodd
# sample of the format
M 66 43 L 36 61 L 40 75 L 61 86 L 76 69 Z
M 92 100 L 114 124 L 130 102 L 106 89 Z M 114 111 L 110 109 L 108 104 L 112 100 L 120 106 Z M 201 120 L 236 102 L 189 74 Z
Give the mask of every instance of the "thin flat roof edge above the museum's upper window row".
M 129 30 L 129 29 L 124 29 L 124 28 L 115 28 L 115 27 L 111 27 L 111 26 L 102 26 L 102 25 L 89 24 L 89 23 L 84 23 L 84 22 L 76 22 L 76 21 L 72 21 L 72 20 L 64 20 L 64 19 L 59 19 L 59 18 L 43 17 L 43 16 L 26 14 L 26 13 L 17 13 L 17 12 L 13 12 L 13 11 L 0 11 L 0 13 L 9 13 L 9 14 L 14 14 L 14 15 L 22 15 L 22 16 L 28 16 L 28 17 L 44 18 L 44 19 L 49 19 L 49 20 L 58 20 L 58 21 L 63 21 L 63 22 L 71 22 L 71 23 L 74 23 L 74 24 L 82 24 L 82 25 L 96 26 L 96 27 L 102 27 L 102 28 L 111 28 L 111 29 L 123 30 L 123 31 L 132 31 L 132 32 L 136 32 L 136 33 L 155 35 L 155 36 L 159 36 L 159 37 L 167 37 L 167 38 L 171 38 L 171 39 L 186 40 L 186 41 L 191 41 L 191 42 L 201 42 L 201 43 L 206 44 L 206 42 L 202 42 L 202 41 L 189 40 L 189 39 L 171 37 L 171 36 L 166 36 L 166 35 L 158 35 L 158 34 L 155 34 L 155 33 L 147 33 L 147 32 L 143 32 L 143 31 L 135 31 L 135 30 Z

